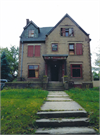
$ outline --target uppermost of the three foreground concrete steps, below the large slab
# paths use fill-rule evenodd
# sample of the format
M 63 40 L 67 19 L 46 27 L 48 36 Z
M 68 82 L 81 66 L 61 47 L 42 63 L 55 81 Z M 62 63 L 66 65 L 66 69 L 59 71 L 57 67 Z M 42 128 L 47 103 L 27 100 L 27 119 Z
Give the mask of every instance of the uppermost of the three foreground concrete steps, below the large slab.
M 65 117 L 87 117 L 86 111 L 52 111 L 37 112 L 39 117 L 43 118 L 65 118 Z

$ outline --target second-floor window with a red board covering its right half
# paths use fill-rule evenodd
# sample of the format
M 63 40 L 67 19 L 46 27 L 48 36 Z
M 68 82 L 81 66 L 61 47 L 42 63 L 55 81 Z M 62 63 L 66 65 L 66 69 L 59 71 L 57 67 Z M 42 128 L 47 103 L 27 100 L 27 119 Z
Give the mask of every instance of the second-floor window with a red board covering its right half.
M 69 44 L 69 54 L 70 55 L 82 55 L 83 49 L 82 49 L 82 43 L 70 43 Z

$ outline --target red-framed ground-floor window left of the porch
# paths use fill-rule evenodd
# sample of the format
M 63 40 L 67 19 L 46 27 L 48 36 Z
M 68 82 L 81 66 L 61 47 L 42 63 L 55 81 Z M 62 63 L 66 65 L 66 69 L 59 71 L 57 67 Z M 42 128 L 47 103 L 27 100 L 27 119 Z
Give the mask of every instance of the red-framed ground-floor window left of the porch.
M 29 65 L 28 66 L 28 78 L 38 78 L 39 77 L 39 66 Z

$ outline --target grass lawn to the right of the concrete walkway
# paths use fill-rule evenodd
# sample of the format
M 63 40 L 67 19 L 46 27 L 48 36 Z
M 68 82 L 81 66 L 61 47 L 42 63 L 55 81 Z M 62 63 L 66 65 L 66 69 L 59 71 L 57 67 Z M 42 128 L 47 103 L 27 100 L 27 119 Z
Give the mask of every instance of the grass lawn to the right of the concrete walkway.
M 99 132 L 99 88 L 73 88 L 65 92 L 87 111 L 90 126 Z

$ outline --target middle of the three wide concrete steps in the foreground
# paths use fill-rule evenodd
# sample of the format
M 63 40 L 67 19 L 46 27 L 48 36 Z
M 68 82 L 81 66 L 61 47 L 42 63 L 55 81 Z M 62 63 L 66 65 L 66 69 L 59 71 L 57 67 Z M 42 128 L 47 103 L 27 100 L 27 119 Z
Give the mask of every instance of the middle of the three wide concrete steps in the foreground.
M 62 119 L 62 118 L 51 118 L 51 119 L 39 119 L 36 120 L 38 127 L 75 127 L 75 126 L 88 126 L 88 118 L 75 118 L 75 119 Z

